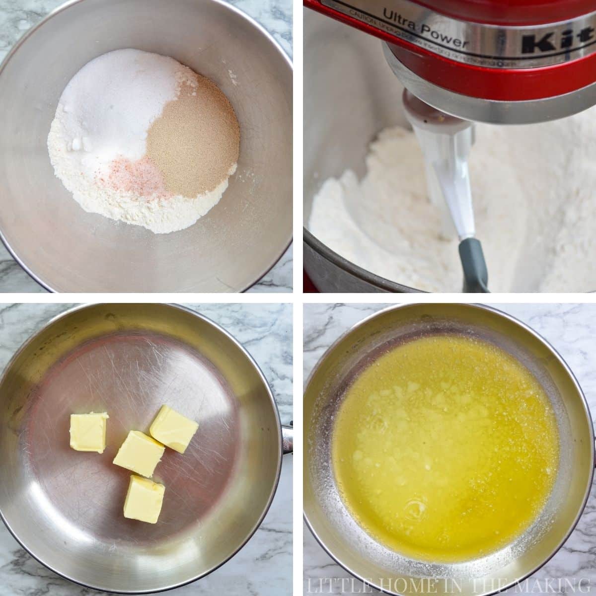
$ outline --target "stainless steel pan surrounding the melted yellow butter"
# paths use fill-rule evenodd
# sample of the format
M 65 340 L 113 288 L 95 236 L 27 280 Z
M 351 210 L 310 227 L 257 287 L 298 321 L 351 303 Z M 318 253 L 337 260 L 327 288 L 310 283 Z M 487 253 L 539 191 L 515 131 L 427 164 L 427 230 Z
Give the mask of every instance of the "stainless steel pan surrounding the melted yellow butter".
M 457 564 L 421 563 L 375 541 L 344 506 L 330 461 L 334 414 L 358 371 L 397 342 L 434 333 L 478 337 L 522 362 L 550 399 L 560 434 L 557 479 L 535 523 L 501 551 Z M 420 578 L 436 580 L 434 594 L 461 596 L 490 594 L 523 580 L 569 537 L 585 507 L 594 473 L 594 430 L 573 373 L 535 331 L 486 306 L 406 305 L 364 319 L 340 337 L 313 370 L 305 390 L 304 421 L 306 522 L 340 565 L 390 594 L 420 592 Z

